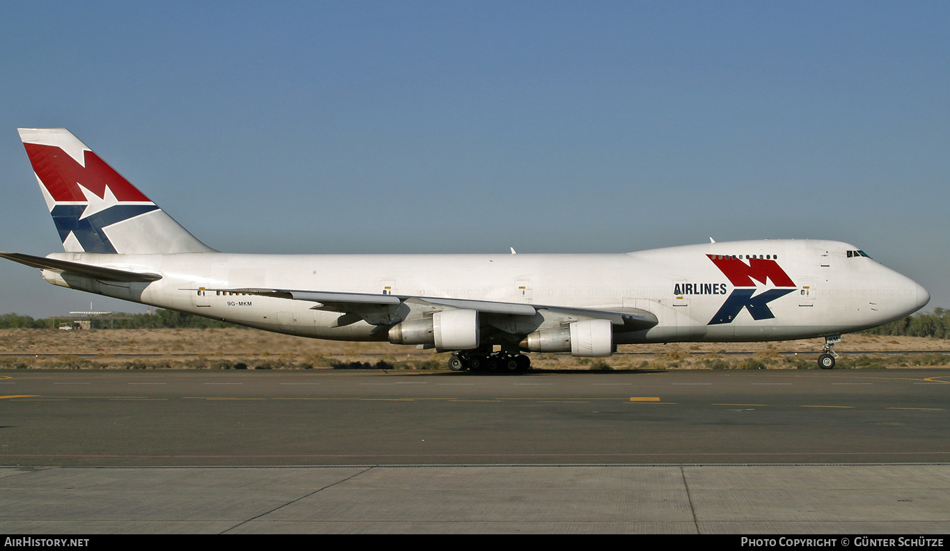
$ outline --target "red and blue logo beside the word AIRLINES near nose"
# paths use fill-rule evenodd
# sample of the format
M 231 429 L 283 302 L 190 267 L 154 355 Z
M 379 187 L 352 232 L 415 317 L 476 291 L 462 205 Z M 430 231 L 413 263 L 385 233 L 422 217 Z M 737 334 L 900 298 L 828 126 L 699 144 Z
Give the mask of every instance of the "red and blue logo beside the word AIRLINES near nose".
M 749 258 L 747 264 L 736 257 L 706 256 L 712 260 L 716 268 L 719 268 L 726 277 L 729 277 L 731 284 L 736 288 L 707 325 L 731 323 L 735 316 L 742 312 L 743 308 L 749 312 L 752 319 L 772 319 L 775 314 L 772 314 L 769 310 L 769 302 L 788 295 L 796 288 L 791 277 L 788 277 L 785 270 L 775 260 Z M 769 291 L 755 295 L 756 282 L 766 285 L 769 281 L 775 287 L 786 287 L 787 289 L 769 289 Z M 788 287 L 791 287 L 791 289 L 788 289 Z

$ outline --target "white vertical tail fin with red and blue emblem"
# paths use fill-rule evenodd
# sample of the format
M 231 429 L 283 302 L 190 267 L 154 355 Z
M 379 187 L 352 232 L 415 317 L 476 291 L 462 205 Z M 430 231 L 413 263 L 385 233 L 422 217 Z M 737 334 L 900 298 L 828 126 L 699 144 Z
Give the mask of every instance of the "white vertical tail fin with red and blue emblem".
M 19 128 L 67 253 L 211 253 L 66 128 Z

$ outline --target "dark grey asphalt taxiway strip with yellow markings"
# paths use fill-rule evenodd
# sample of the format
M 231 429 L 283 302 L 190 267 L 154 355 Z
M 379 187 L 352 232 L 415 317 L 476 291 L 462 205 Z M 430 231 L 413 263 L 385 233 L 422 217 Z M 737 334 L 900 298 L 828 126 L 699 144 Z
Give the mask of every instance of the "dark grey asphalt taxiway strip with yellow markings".
M 6 371 L 10 466 L 950 461 L 950 372 Z

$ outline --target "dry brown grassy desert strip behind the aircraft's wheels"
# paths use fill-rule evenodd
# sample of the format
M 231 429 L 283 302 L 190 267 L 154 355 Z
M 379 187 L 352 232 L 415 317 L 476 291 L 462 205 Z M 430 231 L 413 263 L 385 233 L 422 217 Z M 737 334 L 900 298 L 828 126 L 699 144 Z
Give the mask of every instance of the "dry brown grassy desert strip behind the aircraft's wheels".
M 531 357 L 533 367 L 542 370 L 812 369 L 823 344 L 824 339 L 623 345 L 609 358 Z M 837 369 L 950 366 L 950 355 L 940 353 L 950 351 L 946 339 L 856 333 L 845 335 L 835 350 L 841 354 Z M 0 369 L 433 370 L 446 369 L 447 358 L 447 353 L 414 346 L 322 341 L 239 328 L 0 330 Z

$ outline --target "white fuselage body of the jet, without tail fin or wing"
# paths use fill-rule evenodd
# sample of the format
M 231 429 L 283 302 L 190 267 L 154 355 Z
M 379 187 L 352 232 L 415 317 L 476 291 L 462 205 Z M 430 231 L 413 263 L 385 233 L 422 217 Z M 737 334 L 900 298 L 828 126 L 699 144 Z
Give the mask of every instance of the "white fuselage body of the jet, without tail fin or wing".
M 341 314 L 314 310 L 314 302 L 306 300 L 207 290 L 315 290 L 638 309 L 656 315 L 658 323 L 649 330 L 616 333 L 617 344 L 849 333 L 898 319 L 927 302 L 929 295 L 919 284 L 869 257 L 851 257 L 847 252 L 853 250 L 837 241 L 767 239 L 616 255 L 61 253 L 49 257 L 155 273 L 161 279 L 122 285 L 76 277 L 64 281 L 47 271 L 44 276 L 161 308 L 335 340 L 385 340 L 386 333 L 366 321 L 339 324 Z M 713 261 L 727 257 L 740 272 L 750 266 L 779 268 L 760 276 L 764 281 L 752 270 L 753 277 L 746 278 L 751 284 L 736 284 L 742 274 L 730 276 Z

